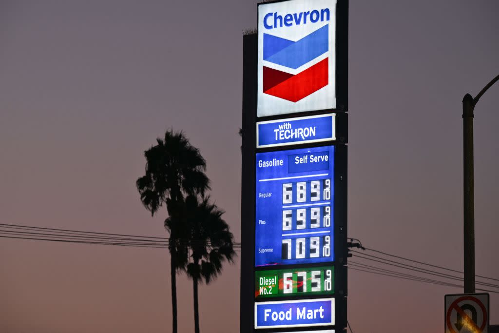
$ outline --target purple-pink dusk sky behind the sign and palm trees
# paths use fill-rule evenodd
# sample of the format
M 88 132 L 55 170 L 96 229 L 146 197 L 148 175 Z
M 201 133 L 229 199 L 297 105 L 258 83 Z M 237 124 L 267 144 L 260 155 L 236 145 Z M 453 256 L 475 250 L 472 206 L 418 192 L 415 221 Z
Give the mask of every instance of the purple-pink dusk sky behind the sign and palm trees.
M 349 237 L 462 270 L 462 106 L 499 74 L 499 1 L 352 0 Z M 135 180 L 184 130 L 240 235 L 242 58 L 256 2 L 0 0 L 0 223 L 164 236 Z M 477 274 L 499 278 L 499 83 L 475 110 Z M 170 332 L 167 250 L 0 239 L 0 332 Z M 200 287 L 239 331 L 240 262 Z M 439 333 L 460 288 L 350 271 L 355 333 Z M 178 277 L 179 332 L 193 332 Z M 497 282 L 496 282 L 497 283 Z M 248 286 L 251 288 L 251 286 Z M 499 324 L 499 294 L 491 294 Z

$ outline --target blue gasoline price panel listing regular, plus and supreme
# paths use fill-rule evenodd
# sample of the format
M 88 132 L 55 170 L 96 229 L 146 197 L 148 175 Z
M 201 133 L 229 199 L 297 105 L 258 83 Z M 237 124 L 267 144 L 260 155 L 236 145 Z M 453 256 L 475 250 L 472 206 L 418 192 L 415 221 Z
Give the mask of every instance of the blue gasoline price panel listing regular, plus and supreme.
M 256 154 L 255 266 L 334 261 L 334 146 Z

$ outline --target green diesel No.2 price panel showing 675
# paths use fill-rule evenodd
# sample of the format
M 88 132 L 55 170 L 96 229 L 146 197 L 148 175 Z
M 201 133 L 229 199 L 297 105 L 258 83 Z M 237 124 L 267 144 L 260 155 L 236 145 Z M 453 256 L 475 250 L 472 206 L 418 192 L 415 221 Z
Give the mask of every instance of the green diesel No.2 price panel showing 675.
M 331 266 L 255 272 L 256 299 L 333 293 Z

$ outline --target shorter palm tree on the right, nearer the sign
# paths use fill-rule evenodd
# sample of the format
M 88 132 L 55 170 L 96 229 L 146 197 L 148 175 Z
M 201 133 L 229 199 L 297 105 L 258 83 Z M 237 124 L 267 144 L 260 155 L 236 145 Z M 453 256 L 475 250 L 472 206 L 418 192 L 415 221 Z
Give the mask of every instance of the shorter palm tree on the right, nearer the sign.
M 222 263 L 233 262 L 235 256 L 233 235 L 229 225 L 222 219 L 224 212 L 210 198 L 199 202 L 198 197 L 189 196 L 184 203 L 184 225 L 189 229 L 190 263 L 187 275 L 194 288 L 194 332 L 199 333 L 198 284 L 209 284 L 222 272 Z

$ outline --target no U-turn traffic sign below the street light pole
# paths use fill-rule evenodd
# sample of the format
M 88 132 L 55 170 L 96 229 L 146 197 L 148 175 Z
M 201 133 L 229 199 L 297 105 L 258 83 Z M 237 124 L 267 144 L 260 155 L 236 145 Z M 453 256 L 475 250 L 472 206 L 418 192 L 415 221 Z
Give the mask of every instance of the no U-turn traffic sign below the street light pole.
M 445 333 L 489 333 L 489 294 L 446 295 Z

